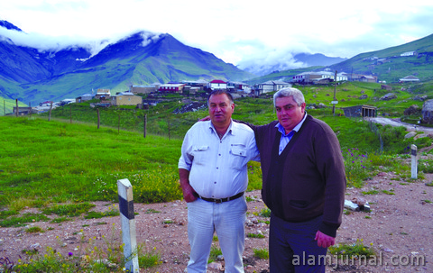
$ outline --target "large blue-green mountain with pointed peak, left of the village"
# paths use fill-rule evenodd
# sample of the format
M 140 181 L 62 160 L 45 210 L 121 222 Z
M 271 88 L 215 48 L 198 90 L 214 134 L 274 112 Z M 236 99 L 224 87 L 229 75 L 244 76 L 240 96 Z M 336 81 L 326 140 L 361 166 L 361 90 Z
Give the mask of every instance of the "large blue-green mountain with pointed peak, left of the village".
M 1 27 L 22 32 L 12 23 Z M 136 32 L 92 55 L 88 46 L 39 50 L 0 36 L 0 96 L 36 105 L 41 101 L 74 98 L 92 89 L 112 93 L 131 85 L 186 79 L 241 81 L 252 74 L 189 47 L 170 34 Z

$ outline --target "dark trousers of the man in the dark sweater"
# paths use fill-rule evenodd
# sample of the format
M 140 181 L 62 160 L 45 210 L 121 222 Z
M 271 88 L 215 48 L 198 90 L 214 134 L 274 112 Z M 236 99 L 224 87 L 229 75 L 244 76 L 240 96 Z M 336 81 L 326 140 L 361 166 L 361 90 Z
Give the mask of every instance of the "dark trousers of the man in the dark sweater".
M 269 234 L 270 273 L 325 272 L 327 248 L 315 241 L 322 216 L 301 223 L 290 223 L 271 214 Z

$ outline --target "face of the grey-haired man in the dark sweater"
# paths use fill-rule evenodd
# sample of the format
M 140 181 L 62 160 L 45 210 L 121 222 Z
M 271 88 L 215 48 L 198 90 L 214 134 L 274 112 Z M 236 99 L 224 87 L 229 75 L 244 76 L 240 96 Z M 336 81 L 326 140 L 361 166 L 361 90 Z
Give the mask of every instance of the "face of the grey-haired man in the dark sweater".
M 298 106 L 293 96 L 279 97 L 275 100 L 277 118 L 286 133 L 289 133 L 302 120 L 305 113 L 305 103 Z

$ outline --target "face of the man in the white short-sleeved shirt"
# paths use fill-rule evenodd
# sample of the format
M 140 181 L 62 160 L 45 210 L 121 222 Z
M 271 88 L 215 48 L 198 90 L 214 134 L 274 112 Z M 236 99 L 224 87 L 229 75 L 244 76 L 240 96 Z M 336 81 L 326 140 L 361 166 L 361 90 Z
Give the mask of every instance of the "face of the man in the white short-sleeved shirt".
M 235 104 L 230 104 L 226 94 L 212 95 L 209 98 L 209 116 L 212 123 L 226 125 L 230 123 Z

